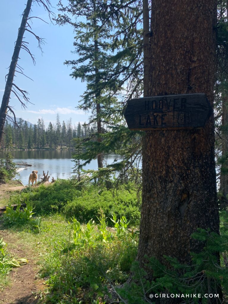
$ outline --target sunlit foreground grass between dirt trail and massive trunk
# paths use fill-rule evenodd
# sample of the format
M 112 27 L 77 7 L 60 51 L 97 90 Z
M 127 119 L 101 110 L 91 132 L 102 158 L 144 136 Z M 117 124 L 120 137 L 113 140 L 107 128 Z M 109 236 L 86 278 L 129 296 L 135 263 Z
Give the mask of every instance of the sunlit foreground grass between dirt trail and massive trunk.
M 58 213 L 44 216 L 39 232 L 28 223 L 7 228 L 14 245 L 29 250 L 40 265 L 40 277 L 48 278 L 43 294 L 47 303 L 91 303 L 104 297 L 109 279 L 115 284 L 126 281 L 137 246 L 127 235 L 116 237 L 112 228 L 105 228 L 109 237 L 104 242 L 101 223 L 93 226 L 89 241 L 73 237 L 71 224 Z M 88 226 L 80 229 L 85 232 Z

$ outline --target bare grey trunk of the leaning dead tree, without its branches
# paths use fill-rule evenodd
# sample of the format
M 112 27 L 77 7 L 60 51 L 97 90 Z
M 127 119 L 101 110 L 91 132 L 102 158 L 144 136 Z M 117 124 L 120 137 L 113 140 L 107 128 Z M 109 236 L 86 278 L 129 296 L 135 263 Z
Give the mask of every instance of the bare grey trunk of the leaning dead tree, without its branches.
M 11 61 L 10 67 L 9 67 L 9 74 L 8 74 L 7 81 L 5 84 L 5 91 L 4 91 L 4 94 L 2 97 L 2 105 L 0 108 L 0 146 L 1 146 L 1 141 L 2 141 L 3 127 L 5 124 L 6 112 L 7 112 L 8 105 L 9 105 L 9 98 L 10 98 L 10 93 L 11 93 L 11 89 L 12 89 L 13 78 L 14 78 L 14 74 L 15 74 L 15 70 L 16 70 L 17 61 L 19 58 L 23 35 L 25 33 L 26 22 L 27 22 L 27 19 L 29 16 L 32 1 L 33 0 L 27 1 L 26 8 L 23 12 L 21 26 L 19 27 L 19 30 L 18 30 L 18 36 L 17 36 L 15 47 L 14 47 L 12 61 Z

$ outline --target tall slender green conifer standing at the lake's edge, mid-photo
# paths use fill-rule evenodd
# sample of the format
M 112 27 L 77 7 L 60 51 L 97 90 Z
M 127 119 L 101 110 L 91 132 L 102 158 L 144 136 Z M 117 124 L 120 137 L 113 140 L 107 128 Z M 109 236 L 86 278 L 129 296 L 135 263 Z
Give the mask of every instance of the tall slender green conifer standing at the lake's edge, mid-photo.
M 80 54 L 78 60 L 66 61 L 66 64 L 74 65 L 74 71 L 71 74 L 75 79 L 81 78 L 82 81 L 87 81 L 87 90 L 83 95 L 83 99 L 80 105 L 81 109 L 91 110 L 92 117 L 90 123 L 96 122 L 97 125 L 97 142 L 102 141 L 102 103 L 110 103 L 110 98 L 106 96 L 104 98 L 101 90 L 94 91 L 94 87 L 98 88 L 100 81 L 100 73 L 105 69 L 106 53 L 108 42 L 105 37 L 110 35 L 110 29 L 108 27 L 99 26 L 99 11 L 100 2 L 97 0 L 89 0 L 82 2 L 80 0 L 70 1 L 69 7 L 64 8 L 61 1 L 59 2 L 60 11 L 70 12 L 74 18 L 84 15 L 86 22 L 78 21 L 74 22 L 74 29 L 76 33 L 76 41 L 74 46 L 76 47 L 75 53 Z M 66 15 L 58 16 L 57 23 L 68 23 L 69 19 L 65 18 Z M 71 23 L 71 22 L 69 22 Z M 83 31 L 81 30 L 83 29 Z M 87 63 L 88 62 L 88 63 Z M 79 67 L 76 67 L 80 64 Z M 88 94 L 89 92 L 89 94 Z M 85 132 L 84 132 L 85 133 Z M 85 134 L 84 134 L 85 136 Z M 103 167 L 102 153 L 97 154 L 98 168 Z

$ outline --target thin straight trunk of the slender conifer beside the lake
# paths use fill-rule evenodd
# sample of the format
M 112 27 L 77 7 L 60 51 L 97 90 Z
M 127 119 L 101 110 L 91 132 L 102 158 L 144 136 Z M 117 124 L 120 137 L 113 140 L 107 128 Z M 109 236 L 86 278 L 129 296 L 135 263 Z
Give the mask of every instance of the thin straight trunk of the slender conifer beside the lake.
M 95 1 L 93 2 L 93 9 L 94 9 L 94 12 L 95 12 L 96 11 Z M 96 18 L 93 18 L 93 25 L 94 25 L 94 27 L 97 26 Z M 98 83 L 98 81 L 99 81 L 99 77 L 98 77 L 99 70 L 98 70 L 98 66 L 97 66 L 97 61 L 98 61 L 98 41 L 97 41 L 97 37 L 96 37 L 96 33 L 95 33 L 94 62 L 95 62 L 95 81 L 96 81 L 96 83 Z M 100 108 L 100 103 L 99 103 L 99 96 L 96 94 L 96 115 L 97 115 L 97 133 L 98 133 L 97 141 L 98 142 L 101 142 L 101 137 L 99 136 L 99 134 L 102 133 L 100 109 L 101 108 Z M 97 155 L 97 164 L 98 164 L 98 168 L 103 168 L 103 156 L 102 156 L 102 154 Z

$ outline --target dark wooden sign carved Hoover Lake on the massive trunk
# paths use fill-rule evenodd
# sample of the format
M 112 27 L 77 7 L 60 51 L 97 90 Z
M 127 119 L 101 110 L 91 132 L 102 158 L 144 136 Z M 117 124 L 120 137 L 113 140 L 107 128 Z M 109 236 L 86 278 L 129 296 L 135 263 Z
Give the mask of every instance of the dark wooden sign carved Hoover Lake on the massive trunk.
M 206 95 L 180 94 L 130 99 L 124 117 L 130 130 L 203 128 L 212 113 Z

